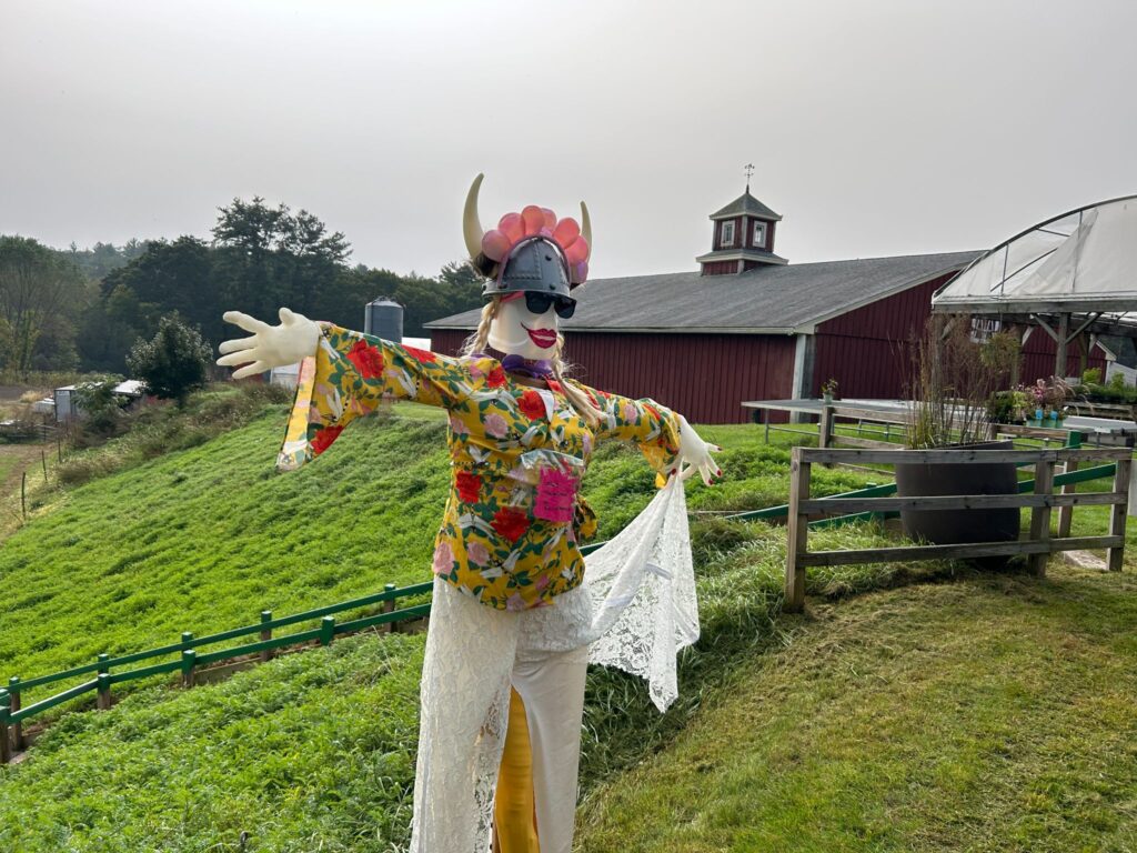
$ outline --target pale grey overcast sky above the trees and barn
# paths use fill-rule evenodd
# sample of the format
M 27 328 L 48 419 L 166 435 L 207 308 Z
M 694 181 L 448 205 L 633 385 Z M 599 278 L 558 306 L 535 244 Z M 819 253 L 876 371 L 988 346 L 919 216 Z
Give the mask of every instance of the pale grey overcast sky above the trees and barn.
M 794 262 L 987 248 L 1137 192 L 1137 2 L 0 0 L 0 233 L 306 208 L 433 274 L 526 204 L 592 278 L 678 272 L 752 191 Z

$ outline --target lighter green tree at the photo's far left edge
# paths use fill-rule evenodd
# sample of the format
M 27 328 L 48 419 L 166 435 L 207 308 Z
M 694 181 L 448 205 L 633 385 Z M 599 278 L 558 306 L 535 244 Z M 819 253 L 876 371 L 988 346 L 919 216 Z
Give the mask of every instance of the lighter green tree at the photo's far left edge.
M 8 326 L 9 367 L 32 370 L 40 337 L 58 331 L 59 315 L 85 301 L 83 275 L 73 263 L 35 240 L 0 237 L 0 317 Z

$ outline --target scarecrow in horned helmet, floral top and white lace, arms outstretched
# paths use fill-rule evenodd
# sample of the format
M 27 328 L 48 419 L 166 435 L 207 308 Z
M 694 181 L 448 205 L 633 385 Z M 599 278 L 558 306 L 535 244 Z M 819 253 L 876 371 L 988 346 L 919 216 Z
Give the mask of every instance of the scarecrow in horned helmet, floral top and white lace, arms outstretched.
M 483 231 L 481 181 L 463 227 L 487 303 L 462 356 L 281 308 L 275 326 L 226 313 L 250 336 L 222 343 L 217 363 L 241 365 L 235 379 L 300 363 L 282 471 L 384 399 L 447 409 L 451 489 L 432 561 L 410 850 L 485 851 L 501 769 L 499 850 L 567 853 L 587 664 L 644 676 L 661 709 L 674 698 L 675 653 L 698 637 L 680 480 L 698 472 L 709 485 L 717 448 L 653 400 L 564 375 L 558 321 L 588 276 L 588 208 L 578 223 L 529 206 Z M 586 582 L 579 543 L 596 516 L 580 483 L 606 440 L 638 446 L 664 488 L 589 555 Z

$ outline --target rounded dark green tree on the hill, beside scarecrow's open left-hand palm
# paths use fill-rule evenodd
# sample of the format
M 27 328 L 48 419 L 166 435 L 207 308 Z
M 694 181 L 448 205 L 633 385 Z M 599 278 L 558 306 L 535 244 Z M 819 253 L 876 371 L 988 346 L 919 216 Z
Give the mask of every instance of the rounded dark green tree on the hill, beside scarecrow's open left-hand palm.
M 190 391 L 205 387 L 213 348 L 201 334 L 185 325 L 176 314 L 158 322 L 152 340 L 139 340 L 126 356 L 126 364 L 147 390 L 161 399 L 185 405 Z

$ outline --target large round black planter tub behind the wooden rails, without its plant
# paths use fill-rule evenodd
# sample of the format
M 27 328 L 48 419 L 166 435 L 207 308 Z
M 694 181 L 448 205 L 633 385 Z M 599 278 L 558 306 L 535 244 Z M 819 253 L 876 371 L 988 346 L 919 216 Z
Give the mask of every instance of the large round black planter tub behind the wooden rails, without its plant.
M 1012 450 L 1011 441 L 955 445 L 943 450 Z M 903 454 L 903 450 L 898 452 Z M 1019 478 L 1014 463 L 897 463 L 896 494 L 899 497 L 935 495 L 1016 495 Z M 904 535 L 932 545 L 1002 543 L 1019 538 L 1019 508 L 1006 510 L 902 510 Z M 985 565 L 1006 563 L 1005 557 L 984 557 Z

